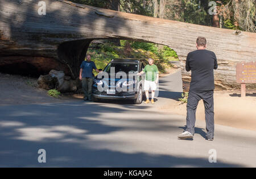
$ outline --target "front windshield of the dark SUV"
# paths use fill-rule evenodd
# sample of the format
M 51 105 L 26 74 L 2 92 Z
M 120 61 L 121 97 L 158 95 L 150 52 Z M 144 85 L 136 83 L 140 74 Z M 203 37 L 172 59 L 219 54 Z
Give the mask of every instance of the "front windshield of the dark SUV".
M 108 66 L 106 66 L 104 72 L 110 73 L 111 67 L 114 67 L 115 73 L 118 73 L 118 72 L 134 73 L 138 71 L 138 64 L 110 63 Z

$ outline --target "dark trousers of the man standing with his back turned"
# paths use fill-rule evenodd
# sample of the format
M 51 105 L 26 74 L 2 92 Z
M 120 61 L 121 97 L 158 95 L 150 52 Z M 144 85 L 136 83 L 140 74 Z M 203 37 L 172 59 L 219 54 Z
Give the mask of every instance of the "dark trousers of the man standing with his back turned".
M 210 91 L 189 91 L 187 103 L 187 128 L 195 134 L 196 108 L 198 102 L 203 99 L 205 109 L 205 122 L 207 138 L 213 139 L 214 136 L 214 109 L 213 109 L 213 90 Z

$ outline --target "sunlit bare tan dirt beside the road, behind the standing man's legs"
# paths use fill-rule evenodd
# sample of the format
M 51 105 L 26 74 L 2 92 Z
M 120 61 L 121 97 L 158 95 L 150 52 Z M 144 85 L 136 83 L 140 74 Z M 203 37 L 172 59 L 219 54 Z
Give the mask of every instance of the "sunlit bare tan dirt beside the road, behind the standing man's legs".
M 172 114 L 187 115 L 186 103 L 167 103 L 160 110 Z M 199 102 L 196 119 L 205 120 L 203 100 Z M 214 91 L 214 122 L 224 126 L 256 131 L 256 90 L 247 91 L 240 97 L 240 91 Z

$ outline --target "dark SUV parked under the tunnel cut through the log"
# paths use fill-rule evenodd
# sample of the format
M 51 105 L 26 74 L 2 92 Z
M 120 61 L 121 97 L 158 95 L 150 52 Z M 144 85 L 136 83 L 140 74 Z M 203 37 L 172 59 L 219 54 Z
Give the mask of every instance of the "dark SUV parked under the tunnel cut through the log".
M 92 99 L 130 99 L 142 102 L 144 76 L 137 73 L 147 65 L 142 59 L 114 59 L 93 80 Z

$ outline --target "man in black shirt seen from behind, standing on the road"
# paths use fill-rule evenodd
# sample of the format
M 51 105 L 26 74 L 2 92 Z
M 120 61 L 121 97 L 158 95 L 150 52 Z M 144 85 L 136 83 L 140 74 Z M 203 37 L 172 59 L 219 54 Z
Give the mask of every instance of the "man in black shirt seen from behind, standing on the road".
M 196 51 L 189 52 L 186 60 L 186 70 L 191 70 L 191 84 L 187 103 L 187 128 L 178 136 L 179 139 L 193 138 L 196 123 L 196 108 L 198 102 L 203 99 L 205 108 L 205 122 L 207 139 L 213 140 L 214 136 L 214 111 L 213 69 L 218 68 L 217 58 L 214 52 L 206 49 L 207 41 L 204 37 L 196 40 Z

